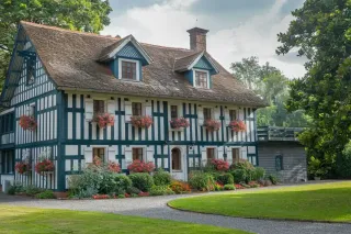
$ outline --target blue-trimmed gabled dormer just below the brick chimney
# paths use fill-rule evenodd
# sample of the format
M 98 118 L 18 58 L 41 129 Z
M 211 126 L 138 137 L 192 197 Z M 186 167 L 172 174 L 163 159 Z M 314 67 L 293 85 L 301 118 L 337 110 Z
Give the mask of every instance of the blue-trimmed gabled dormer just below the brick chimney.
M 178 58 L 174 64 L 174 71 L 184 74 L 184 77 L 193 87 L 203 89 L 211 89 L 211 77 L 219 73 L 205 51 Z

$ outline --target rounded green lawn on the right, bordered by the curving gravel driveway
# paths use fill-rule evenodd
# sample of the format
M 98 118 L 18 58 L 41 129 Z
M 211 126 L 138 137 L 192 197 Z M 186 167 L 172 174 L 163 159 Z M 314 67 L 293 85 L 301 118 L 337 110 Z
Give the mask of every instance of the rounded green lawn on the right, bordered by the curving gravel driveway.
M 178 199 L 169 205 L 229 216 L 351 222 L 351 182 L 241 190 Z

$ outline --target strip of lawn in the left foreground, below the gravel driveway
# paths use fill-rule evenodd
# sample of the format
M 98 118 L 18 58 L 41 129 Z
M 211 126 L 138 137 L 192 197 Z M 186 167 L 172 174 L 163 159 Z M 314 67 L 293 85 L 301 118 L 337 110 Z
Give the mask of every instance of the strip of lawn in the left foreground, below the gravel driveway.
M 44 210 L 0 205 L 0 233 L 52 234 L 52 233 L 215 233 L 241 234 L 238 230 L 191 224 L 156 219 L 125 216 L 99 212 Z

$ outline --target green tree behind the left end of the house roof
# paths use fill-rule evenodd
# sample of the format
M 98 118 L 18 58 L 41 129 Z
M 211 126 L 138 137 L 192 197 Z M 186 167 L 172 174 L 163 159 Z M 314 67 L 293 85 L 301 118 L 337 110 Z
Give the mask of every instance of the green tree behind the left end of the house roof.
M 98 33 L 110 24 L 104 0 L 2 0 L 0 4 L 0 88 L 20 21 Z

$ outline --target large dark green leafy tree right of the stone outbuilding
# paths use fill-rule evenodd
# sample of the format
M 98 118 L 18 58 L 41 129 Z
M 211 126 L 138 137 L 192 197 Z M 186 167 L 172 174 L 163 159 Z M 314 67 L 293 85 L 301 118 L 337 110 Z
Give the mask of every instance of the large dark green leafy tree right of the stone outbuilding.
M 308 62 L 305 77 L 291 85 L 287 109 L 313 119 L 301 141 L 309 155 L 332 164 L 351 137 L 351 1 L 306 0 L 292 14 L 276 53 L 297 49 Z

